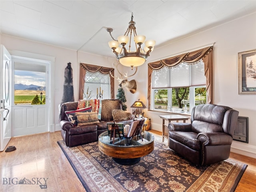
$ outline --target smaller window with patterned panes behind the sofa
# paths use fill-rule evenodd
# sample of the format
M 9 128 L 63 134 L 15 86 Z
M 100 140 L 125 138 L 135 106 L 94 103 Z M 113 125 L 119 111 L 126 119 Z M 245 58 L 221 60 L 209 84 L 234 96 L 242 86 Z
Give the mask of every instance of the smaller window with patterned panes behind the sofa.
M 97 89 L 98 95 L 101 92 L 103 99 L 110 99 L 110 76 L 103 75 L 101 73 L 90 73 L 87 72 L 85 75 L 85 83 L 84 83 L 84 98 L 87 99 L 86 94 L 88 90 L 88 94 L 91 92 L 91 98 L 97 98 Z

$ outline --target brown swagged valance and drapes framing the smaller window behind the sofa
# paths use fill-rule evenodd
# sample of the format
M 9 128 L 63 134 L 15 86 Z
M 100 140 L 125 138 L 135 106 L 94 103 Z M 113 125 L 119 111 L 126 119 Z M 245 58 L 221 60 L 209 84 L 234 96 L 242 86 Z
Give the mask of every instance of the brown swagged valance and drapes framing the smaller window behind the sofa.
M 114 78 L 110 76 L 110 72 L 114 76 L 114 68 L 84 64 L 84 63 L 80 63 L 79 99 L 83 99 L 84 92 L 86 92 L 86 89 L 85 89 L 85 87 L 87 87 L 86 72 L 93 74 L 91 77 L 94 77 L 97 73 L 100 73 L 102 75 L 108 75 L 110 77 L 110 98 L 114 99 L 115 97 L 114 96 Z M 104 80 L 104 78 L 102 78 L 102 80 Z M 89 82 L 88 79 L 87 79 L 87 82 Z M 96 83 L 100 84 L 100 82 L 96 82 Z M 97 87 L 95 87 L 95 90 L 96 89 Z

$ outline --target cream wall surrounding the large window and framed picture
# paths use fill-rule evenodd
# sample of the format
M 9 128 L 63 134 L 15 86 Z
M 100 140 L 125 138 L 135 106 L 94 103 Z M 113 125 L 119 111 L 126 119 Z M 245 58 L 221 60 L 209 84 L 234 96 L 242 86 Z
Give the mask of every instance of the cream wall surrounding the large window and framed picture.
M 161 48 L 156 48 L 148 62 L 168 58 L 189 50 L 214 44 L 214 104 L 230 106 L 239 111 L 239 116 L 249 117 L 249 144 L 234 141 L 232 151 L 256 158 L 256 95 L 238 94 L 238 52 L 256 48 L 256 14 L 251 14 L 178 40 Z M 160 34 L 158 34 L 160 35 Z M 140 67 L 143 75 L 136 76 L 140 83 L 147 80 L 147 64 Z M 140 86 L 140 85 L 139 85 Z M 141 92 L 142 101 L 148 106 L 146 85 Z M 131 103 L 132 104 L 132 103 Z M 163 112 L 146 110 L 151 118 L 151 128 L 162 130 Z

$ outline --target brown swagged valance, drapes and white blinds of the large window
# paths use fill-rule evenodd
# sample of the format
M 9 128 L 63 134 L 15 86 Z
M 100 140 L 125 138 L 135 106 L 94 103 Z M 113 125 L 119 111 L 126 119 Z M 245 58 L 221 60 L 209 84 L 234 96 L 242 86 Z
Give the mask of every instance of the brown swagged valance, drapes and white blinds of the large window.
M 182 65 L 189 67 L 182 68 Z M 202 68 L 204 73 L 200 72 Z M 164 79 L 161 79 L 162 77 Z M 200 85 L 204 81 L 206 101 L 213 103 L 213 46 L 150 62 L 148 63 L 148 108 L 150 109 L 151 94 L 155 88 L 167 90 L 178 86 L 192 87 L 193 84 Z M 168 95 L 172 97 L 169 91 Z

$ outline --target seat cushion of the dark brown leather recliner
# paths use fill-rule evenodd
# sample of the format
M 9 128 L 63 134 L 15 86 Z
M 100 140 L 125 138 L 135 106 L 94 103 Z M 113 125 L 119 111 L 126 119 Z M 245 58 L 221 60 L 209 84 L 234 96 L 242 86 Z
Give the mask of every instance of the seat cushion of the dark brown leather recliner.
M 199 151 L 201 149 L 200 141 L 196 139 L 197 133 L 195 132 L 169 131 L 169 137 L 193 150 Z

